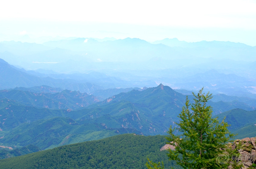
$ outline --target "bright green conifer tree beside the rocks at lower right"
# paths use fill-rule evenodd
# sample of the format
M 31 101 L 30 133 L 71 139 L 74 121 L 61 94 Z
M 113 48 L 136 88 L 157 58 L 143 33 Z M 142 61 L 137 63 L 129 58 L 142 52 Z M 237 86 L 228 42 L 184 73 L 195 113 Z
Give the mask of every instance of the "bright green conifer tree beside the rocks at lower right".
M 197 95 L 192 93 L 195 97 L 192 105 L 187 97 L 186 105 L 178 116 L 180 121 L 176 127 L 169 128 L 167 140 L 175 150 L 168 150 L 168 156 L 183 168 L 227 168 L 229 161 L 218 160 L 218 157 L 229 158 L 229 155 L 220 155 L 227 152 L 227 143 L 233 134 L 228 131 L 229 125 L 224 119 L 219 123 L 217 118 L 212 118 L 212 108 L 207 106 L 212 94 L 202 91 L 203 88 Z

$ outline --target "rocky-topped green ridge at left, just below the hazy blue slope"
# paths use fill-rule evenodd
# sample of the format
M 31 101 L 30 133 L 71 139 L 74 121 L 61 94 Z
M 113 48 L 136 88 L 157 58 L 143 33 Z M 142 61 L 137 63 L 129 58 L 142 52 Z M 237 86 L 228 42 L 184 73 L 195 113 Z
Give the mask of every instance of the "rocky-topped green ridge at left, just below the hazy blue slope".
M 30 90 L 29 88 L 27 90 Z M 70 109 L 86 107 L 96 103 L 97 97 L 79 91 L 64 90 L 58 93 L 38 93 L 21 90 L 1 90 L 0 99 L 15 100 L 26 106 L 49 109 Z

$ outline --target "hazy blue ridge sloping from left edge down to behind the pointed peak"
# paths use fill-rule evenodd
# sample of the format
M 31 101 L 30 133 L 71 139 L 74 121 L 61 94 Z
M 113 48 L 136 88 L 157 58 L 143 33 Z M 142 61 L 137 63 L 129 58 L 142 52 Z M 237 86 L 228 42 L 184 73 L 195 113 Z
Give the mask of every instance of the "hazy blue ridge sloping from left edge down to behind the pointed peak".
M 155 85 L 154 81 L 134 82 L 121 78 L 111 77 L 102 73 L 91 72 L 89 74 L 42 74 L 33 71 L 25 71 L 9 65 L 0 59 L 0 89 L 16 87 L 34 87 L 48 85 L 53 88 L 62 88 L 72 91 L 90 93 L 95 90 L 115 87 Z M 96 84 L 95 84 L 96 83 Z M 136 84 L 137 83 L 137 84 Z M 102 85 L 102 86 L 101 86 Z

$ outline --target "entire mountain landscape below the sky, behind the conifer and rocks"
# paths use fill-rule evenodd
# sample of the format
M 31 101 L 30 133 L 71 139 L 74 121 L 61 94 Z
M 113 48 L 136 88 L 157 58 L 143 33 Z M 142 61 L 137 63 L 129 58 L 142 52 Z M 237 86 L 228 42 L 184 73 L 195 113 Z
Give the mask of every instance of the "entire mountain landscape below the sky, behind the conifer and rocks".
M 0 167 L 145 168 L 149 157 L 179 168 L 159 149 L 186 97 L 193 103 L 203 87 L 212 116 L 226 117 L 235 139 L 255 137 L 255 53 L 242 43 L 177 39 L 0 42 L 0 157 L 21 155 Z

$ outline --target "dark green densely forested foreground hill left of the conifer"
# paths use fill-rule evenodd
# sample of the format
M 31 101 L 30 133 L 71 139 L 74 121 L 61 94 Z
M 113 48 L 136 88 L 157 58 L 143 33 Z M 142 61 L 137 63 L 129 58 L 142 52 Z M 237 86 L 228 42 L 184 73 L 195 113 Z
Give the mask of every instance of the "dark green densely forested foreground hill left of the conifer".
M 164 136 L 122 134 L 102 140 L 87 141 L 50 150 L 0 160 L 0 168 L 146 168 L 147 158 L 164 161 L 166 167 L 175 166 L 167 151 L 160 151 Z

